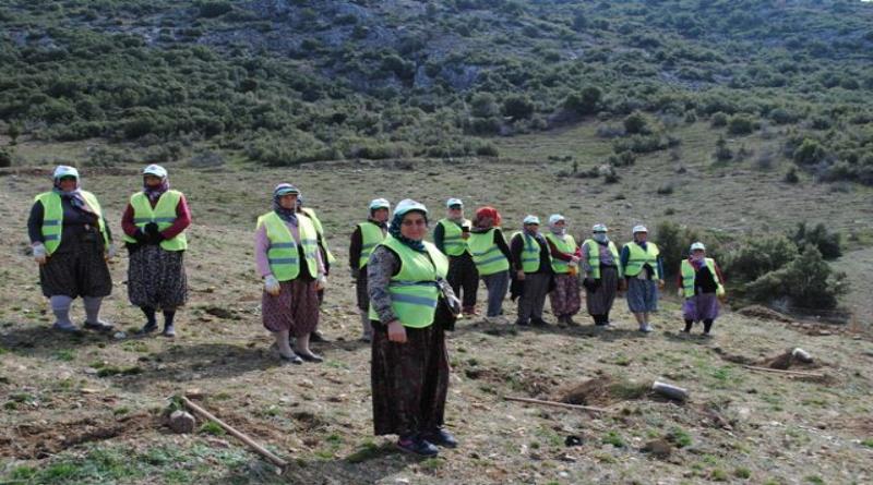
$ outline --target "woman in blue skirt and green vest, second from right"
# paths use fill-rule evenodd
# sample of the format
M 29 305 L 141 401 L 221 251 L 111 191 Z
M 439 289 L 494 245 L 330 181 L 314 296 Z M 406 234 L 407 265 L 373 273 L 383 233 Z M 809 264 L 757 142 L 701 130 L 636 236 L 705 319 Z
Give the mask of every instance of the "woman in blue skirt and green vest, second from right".
M 658 246 L 648 242 L 645 226 L 635 226 L 633 232 L 634 240 L 621 248 L 623 288 L 639 331 L 649 332 L 651 314 L 658 311 L 658 289 L 663 288 L 663 259 Z

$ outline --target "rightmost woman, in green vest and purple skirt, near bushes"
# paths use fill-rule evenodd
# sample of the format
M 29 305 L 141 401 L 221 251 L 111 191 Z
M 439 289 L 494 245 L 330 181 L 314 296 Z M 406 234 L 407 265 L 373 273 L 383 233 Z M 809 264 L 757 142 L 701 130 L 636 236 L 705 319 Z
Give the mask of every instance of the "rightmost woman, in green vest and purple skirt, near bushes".
M 713 323 L 718 318 L 718 300 L 725 298 L 725 278 L 715 259 L 706 257 L 702 242 L 691 245 L 687 259 L 679 268 L 679 296 L 684 298 L 682 314 L 685 317 L 685 334 L 703 322 L 703 335 L 709 336 Z

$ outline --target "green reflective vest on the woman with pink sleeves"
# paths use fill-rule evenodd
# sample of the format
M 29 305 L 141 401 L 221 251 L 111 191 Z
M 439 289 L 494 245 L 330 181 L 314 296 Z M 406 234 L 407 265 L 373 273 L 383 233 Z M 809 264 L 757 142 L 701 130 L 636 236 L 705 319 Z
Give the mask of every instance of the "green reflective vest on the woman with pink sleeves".
M 300 275 L 300 252 L 288 226 L 276 213 L 267 213 L 258 218 L 258 228 L 265 226 L 270 248 L 266 252 L 270 270 L 279 281 L 290 281 Z M 297 218 L 300 244 L 303 246 L 309 275 L 319 276 L 319 241 L 315 228 L 308 217 Z

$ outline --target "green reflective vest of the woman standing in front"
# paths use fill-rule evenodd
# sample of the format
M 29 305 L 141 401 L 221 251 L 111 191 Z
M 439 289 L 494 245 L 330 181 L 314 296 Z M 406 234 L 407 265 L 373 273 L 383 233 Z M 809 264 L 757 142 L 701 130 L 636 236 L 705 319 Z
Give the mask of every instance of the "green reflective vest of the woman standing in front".
M 427 241 L 424 241 L 427 254 L 409 248 L 391 235 L 385 238 L 381 245 L 400 258 L 400 270 L 391 277 L 388 283 L 392 312 L 405 327 L 430 326 L 433 324 L 440 299 L 436 279 L 445 278 L 449 274 L 449 258 Z M 370 304 L 370 319 L 379 320 L 372 304 Z

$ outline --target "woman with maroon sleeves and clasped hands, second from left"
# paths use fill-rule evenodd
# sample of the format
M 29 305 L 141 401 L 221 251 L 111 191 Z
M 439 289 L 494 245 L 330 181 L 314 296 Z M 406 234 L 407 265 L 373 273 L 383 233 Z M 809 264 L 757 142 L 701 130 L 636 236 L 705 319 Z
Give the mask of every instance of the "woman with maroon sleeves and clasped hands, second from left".
M 150 165 L 143 170 L 143 190 L 130 196 L 121 217 L 124 243 L 130 255 L 128 298 L 145 314 L 140 330 L 157 330 L 155 313 L 164 313 L 165 337 L 175 337 L 176 311 L 188 301 L 184 252 L 191 225 L 184 194 L 171 190 L 167 170 Z

